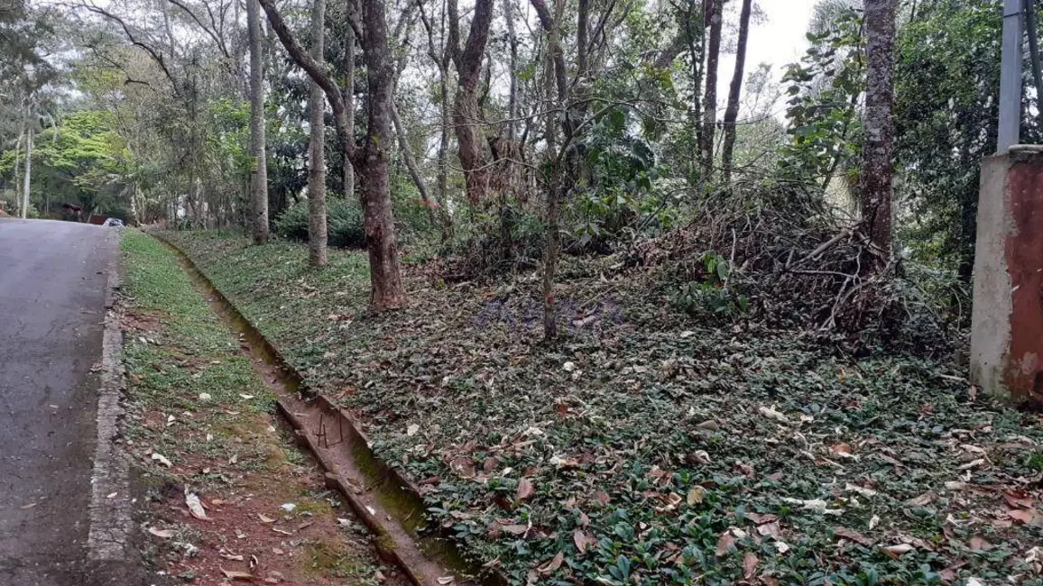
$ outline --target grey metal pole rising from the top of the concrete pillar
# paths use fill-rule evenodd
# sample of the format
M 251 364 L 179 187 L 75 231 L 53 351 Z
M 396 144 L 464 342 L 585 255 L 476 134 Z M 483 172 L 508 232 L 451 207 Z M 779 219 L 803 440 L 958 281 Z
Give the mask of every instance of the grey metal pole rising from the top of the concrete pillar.
M 1021 133 L 1021 0 L 1003 1 L 1003 58 L 999 73 L 999 132 L 996 152 L 1018 144 Z

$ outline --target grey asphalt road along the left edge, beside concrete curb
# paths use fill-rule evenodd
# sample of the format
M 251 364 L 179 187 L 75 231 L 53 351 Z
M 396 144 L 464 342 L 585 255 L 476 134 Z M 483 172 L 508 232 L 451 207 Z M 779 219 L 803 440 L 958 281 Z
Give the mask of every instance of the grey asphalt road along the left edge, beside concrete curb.
M 118 229 L 0 219 L 0 585 L 82 586 Z M 117 583 L 125 583 L 122 580 Z

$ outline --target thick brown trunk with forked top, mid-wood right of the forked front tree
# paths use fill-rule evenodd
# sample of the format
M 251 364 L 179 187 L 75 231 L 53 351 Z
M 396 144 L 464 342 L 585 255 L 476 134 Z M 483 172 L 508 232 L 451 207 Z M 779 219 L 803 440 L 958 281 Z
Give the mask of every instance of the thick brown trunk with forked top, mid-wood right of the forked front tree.
M 455 6 L 456 0 L 448 0 Z M 453 105 L 453 124 L 456 126 L 457 145 L 460 149 L 460 166 L 463 168 L 467 201 L 478 204 L 489 190 L 489 169 L 485 156 L 485 141 L 482 139 L 482 115 L 478 105 L 478 83 L 482 74 L 482 56 L 489 39 L 492 23 L 493 0 L 476 0 L 475 13 L 470 20 L 470 31 L 463 52 L 455 58 L 459 89 Z M 456 10 L 451 10 L 454 13 Z M 450 28 L 459 27 L 458 21 L 450 18 Z M 458 39 L 459 32 L 451 34 Z M 453 45 L 454 52 L 459 51 Z

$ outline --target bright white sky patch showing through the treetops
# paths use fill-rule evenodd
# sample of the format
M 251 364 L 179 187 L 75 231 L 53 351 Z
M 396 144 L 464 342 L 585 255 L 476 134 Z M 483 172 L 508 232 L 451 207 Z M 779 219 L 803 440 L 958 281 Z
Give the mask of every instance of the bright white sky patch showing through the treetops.
M 800 60 L 807 49 L 807 23 L 817 0 L 758 0 L 758 3 L 767 18 L 750 25 L 745 70 L 749 73 L 758 64 L 769 64 L 777 81 L 782 78 L 785 65 Z M 735 69 L 735 55 L 721 55 L 719 67 L 718 101 L 724 107 Z M 776 109 L 780 108 L 781 105 L 776 105 Z M 777 114 L 780 115 L 781 112 Z

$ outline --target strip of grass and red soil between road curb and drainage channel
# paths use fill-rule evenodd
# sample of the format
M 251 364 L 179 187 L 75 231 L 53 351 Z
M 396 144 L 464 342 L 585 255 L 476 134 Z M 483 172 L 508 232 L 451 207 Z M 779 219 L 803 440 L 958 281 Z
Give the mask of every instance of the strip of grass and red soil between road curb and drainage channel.
M 350 515 L 325 491 L 314 462 L 278 431 L 274 395 L 174 253 L 149 236 L 125 230 L 122 254 L 127 443 L 152 487 L 148 524 L 175 532 L 168 540 L 152 539 L 151 557 L 171 575 L 207 584 L 225 582 L 221 568 L 260 578 L 282 575 L 288 584 L 372 581 L 378 566 L 364 528 L 353 523 L 345 532 L 338 523 L 338 516 Z M 201 399 L 201 393 L 211 398 Z M 153 460 L 153 451 L 172 466 Z M 178 514 L 183 486 L 198 492 L 210 521 Z M 296 509 L 283 511 L 283 503 Z M 258 514 L 275 521 L 269 527 Z M 294 530 L 304 523 L 310 524 Z M 287 538 L 271 527 L 294 535 Z M 191 555 L 186 544 L 195 547 Z M 253 555 L 260 565 L 251 569 L 233 553 Z

